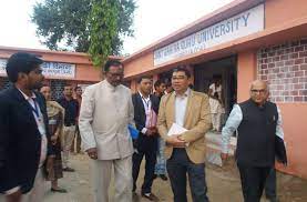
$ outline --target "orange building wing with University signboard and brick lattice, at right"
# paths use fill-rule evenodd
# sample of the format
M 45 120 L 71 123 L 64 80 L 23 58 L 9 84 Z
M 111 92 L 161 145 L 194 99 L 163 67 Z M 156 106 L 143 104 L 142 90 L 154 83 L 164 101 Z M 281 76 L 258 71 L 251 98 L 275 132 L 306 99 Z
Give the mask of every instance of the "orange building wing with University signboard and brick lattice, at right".
M 222 78 L 226 113 L 249 98 L 249 83 L 268 82 L 282 110 L 289 164 L 278 169 L 307 179 L 307 3 L 306 0 L 235 0 L 123 60 L 125 80 L 154 80 L 176 67 L 193 72 L 206 92 Z

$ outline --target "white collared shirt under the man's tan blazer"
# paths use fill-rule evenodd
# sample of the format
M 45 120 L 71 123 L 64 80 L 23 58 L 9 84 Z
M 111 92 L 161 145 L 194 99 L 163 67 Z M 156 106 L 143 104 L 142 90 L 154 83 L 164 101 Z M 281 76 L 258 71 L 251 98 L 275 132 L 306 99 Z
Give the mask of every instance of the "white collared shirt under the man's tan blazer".
M 184 125 L 187 99 L 191 94 L 191 89 L 187 89 L 182 95 L 175 92 L 175 121 L 178 125 Z

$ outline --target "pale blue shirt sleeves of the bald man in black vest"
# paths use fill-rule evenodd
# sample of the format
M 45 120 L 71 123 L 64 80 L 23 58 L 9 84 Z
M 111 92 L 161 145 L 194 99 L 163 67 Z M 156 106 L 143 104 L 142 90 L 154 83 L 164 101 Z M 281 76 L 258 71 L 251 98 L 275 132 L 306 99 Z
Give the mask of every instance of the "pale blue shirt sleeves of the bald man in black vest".
M 282 113 L 278 107 L 277 107 L 277 111 L 278 111 L 278 120 L 276 124 L 276 135 L 284 140 L 284 131 L 282 128 Z M 229 144 L 231 137 L 235 131 L 237 131 L 242 120 L 243 120 L 243 113 L 242 113 L 241 107 L 238 104 L 235 104 L 229 114 L 229 118 L 226 121 L 225 127 L 222 130 L 222 152 L 223 153 L 228 153 L 228 144 Z

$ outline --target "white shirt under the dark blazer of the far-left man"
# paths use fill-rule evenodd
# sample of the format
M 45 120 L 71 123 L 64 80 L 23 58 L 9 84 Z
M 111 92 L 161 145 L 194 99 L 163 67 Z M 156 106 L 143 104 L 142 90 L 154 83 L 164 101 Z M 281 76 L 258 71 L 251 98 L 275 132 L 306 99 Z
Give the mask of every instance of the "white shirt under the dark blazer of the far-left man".
M 32 93 L 31 97 L 28 97 L 20 89 L 18 89 L 18 90 L 21 92 L 23 98 L 31 105 L 32 114 L 35 119 L 38 130 L 39 130 L 39 132 L 42 137 L 42 139 L 41 139 L 41 155 L 40 155 L 40 163 L 39 163 L 39 168 L 41 168 L 43 165 L 45 159 L 47 159 L 47 147 L 48 147 L 48 140 L 47 140 L 47 134 L 45 134 L 45 125 L 44 125 L 44 122 L 43 122 L 43 114 L 40 110 L 39 103 L 35 101 L 37 95 L 34 93 Z M 20 186 L 16 186 L 13 189 L 10 189 L 10 190 L 6 191 L 6 194 L 7 195 L 12 194 L 12 193 L 17 192 L 19 189 L 20 189 Z

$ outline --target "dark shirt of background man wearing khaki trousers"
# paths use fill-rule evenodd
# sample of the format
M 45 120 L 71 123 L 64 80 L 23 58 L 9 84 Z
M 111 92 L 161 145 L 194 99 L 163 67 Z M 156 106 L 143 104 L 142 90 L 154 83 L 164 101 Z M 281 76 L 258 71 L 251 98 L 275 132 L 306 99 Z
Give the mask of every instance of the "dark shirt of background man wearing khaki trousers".
M 79 103 L 76 100 L 66 100 L 61 98 L 58 102 L 65 109 L 64 125 L 71 127 L 75 124 L 76 118 L 79 115 Z

